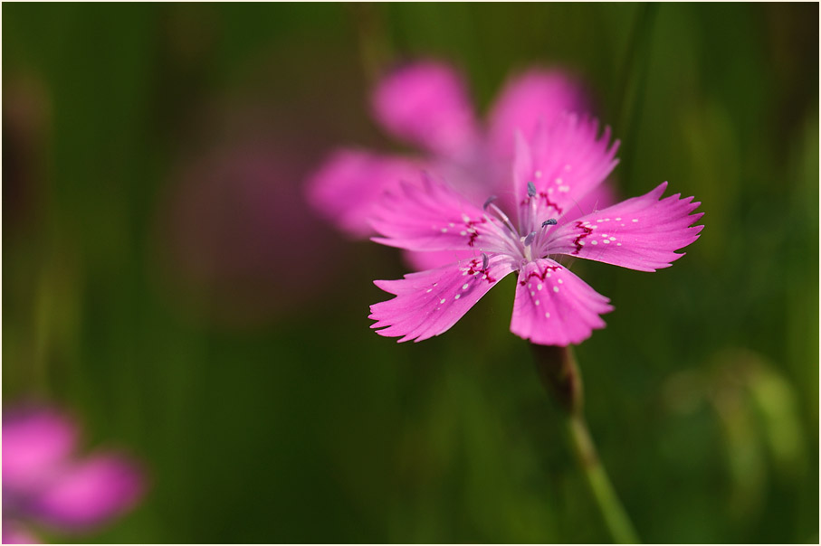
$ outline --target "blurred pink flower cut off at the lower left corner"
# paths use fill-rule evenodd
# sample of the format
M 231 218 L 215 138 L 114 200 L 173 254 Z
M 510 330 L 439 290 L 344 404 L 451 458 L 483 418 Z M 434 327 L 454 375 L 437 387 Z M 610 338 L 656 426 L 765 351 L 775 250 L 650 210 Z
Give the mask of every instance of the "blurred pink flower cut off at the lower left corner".
M 4 411 L 4 542 L 35 542 L 27 521 L 60 532 L 90 531 L 142 496 L 142 473 L 129 457 L 111 451 L 76 457 L 78 437 L 72 420 L 56 410 Z

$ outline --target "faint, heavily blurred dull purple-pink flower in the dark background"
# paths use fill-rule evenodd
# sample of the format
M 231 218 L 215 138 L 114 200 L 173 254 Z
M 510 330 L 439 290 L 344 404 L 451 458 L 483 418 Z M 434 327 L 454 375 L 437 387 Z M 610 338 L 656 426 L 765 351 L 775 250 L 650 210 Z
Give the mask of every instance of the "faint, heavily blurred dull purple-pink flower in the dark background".
M 240 127 L 180 162 L 156 231 L 175 297 L 220 325 L 245 328 L 321 296 L 323 264 L 335 249 L 302 199 L 306 161 L 299 146 Z M 283 267 L 282 249 L 299 267 Z

